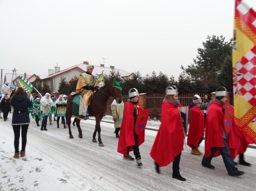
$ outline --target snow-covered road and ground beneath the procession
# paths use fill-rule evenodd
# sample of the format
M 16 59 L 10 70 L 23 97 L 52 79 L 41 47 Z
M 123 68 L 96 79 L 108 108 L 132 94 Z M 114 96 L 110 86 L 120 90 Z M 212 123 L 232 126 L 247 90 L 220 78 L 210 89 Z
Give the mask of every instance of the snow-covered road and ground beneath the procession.
M 202 155 L 190 154 L 190 148 L 182 151 L 180 172 L 187 179 L 182 182 L 172 178 L 172 163 L 160 168 L 157 174 L 149 153 L 157 131 L 146 130 L 145 143 L 140 146 L 142 168 L 135 161 L 123 160 L 117 153 L 118 139 L 114 134 L 111 116 L 101 122 L 101 138 L 104 147 L 92 142 L 94 120 L 81 122 L 83 138 L 78 138 L 76 127 L 71 126 L 74 139 L 69 139 L 68 129 L 47 125 L 48 131 L 40 131 L 31 118 L 26 156 L 14 155 L 14 135 L 9 120 L 0 119 L 0 191 L 96 191 L 96 190 L 254 190 L 256 187 L 256 149 L 247 148 L 245 159 L 250 167 L 238 165 L 245 171 L 240 177 L 227 175 L 221 157 L 213 158 L 215 169 L 201 165 Z M 93 119 L 93 117 L 91 117 Z M 73 118 L 72 118 L 73 121 Z M 149 121 L 147 128 L 157 129 L 160 122 Z M 97 138 L 97 137 L 96 137 Z M 21 144 L 21 138 L 20 138 Z M 20 145 L 21 147 L 21 145 Z M 204 141 L 200 151 L 204 153 Z M 133 156 L 133 152 L 130 153 Z M 235 160 L 238 162 L 238 160 Z

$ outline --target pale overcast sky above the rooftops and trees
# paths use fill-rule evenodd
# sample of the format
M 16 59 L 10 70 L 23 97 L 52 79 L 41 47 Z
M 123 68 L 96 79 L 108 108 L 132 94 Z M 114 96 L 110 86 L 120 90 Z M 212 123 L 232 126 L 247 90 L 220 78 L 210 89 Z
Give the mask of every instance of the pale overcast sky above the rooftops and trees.
M 256 9 L 255 0 L 243 0 Z M 206 37 L 233 33 L 235 0 L 0 0 L 0 69 L 48 75 L 83 61 L 178 79 Z

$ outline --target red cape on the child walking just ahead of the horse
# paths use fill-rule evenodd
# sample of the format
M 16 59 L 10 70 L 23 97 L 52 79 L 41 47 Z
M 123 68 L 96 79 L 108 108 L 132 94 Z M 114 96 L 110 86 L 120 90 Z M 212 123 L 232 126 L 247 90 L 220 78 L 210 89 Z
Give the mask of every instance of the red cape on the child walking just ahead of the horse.
M 139 110 L 142 110 L 139 102 L 136 104 L 136 107 Z M 125 102 L 124 110 L 123 110 L 123 121 L 120 128 L 120 134 L 118 139 L 117 152 L 127 155 L 127 147 L 135 145 L 134 141 L 134 116 L 133 116 L 134 105 L 130 102 Z M 141 145 L 144 143 L 145 139 L 145 130 L 137 135 L 138 144 Z M 130 151 L 133 151 L 133 147 L 131 147 Z

